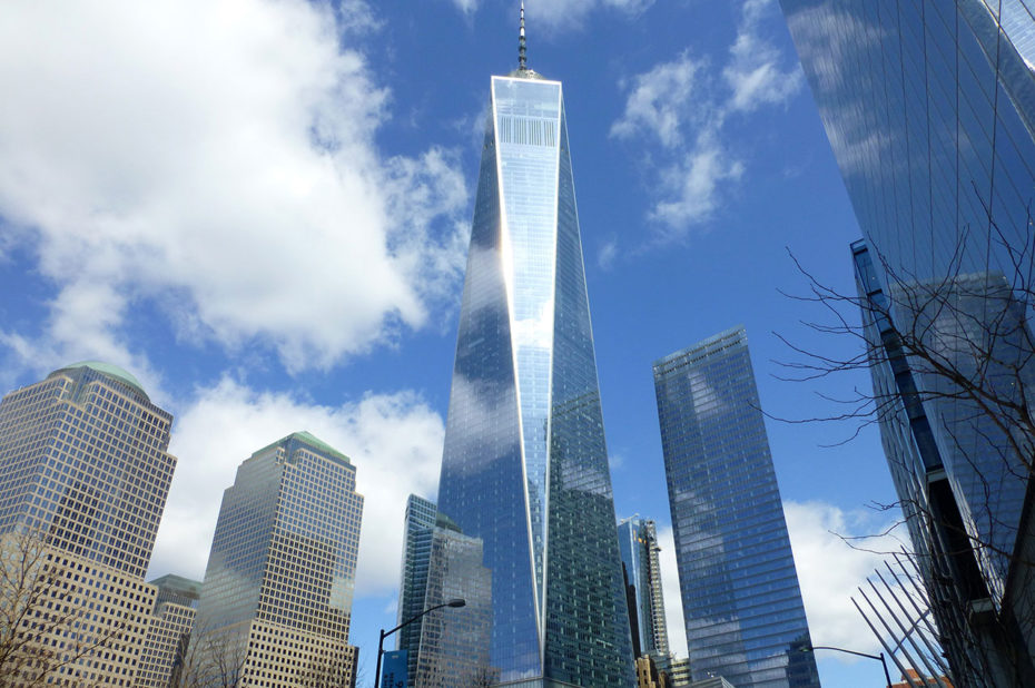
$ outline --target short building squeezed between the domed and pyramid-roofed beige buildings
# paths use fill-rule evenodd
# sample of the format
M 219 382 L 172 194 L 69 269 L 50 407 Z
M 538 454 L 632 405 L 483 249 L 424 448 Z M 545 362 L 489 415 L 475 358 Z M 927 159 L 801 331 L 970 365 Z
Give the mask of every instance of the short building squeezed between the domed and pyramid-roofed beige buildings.
M 183 671 L 194 629 L 201 583 L 180 576 L 162 576 L 150 581 L 156 588 L 155 609 L 148 619 L 147 635 L 137 667 L 137 688 L 167 688 Z

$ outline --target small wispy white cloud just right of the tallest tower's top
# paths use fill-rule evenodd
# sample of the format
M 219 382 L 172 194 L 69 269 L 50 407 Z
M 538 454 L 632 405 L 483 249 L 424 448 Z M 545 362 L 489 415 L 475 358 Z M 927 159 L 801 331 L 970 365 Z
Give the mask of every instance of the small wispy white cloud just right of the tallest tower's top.
M 703 62 L 684 52 L 633 77 L 625 112 L 611 126 L 611 136 L 630 138 L 645 131 L 666 147 L 681 144 L 681 125 L 688 116 L 694 77 L 702 67 Z

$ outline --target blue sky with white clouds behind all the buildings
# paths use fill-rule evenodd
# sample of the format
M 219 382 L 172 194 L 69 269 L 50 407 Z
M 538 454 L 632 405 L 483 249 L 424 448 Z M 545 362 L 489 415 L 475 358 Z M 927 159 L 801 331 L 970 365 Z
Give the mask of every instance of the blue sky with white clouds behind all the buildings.
M 651 363 L 743 324 L 768 413 L 837 414 L 818 394 L 868 379 L 781 382 L 773 333 L 858 353 L 781 294 L 808 287 L 789 252 L 850 293 L 858 228 L 777 2 L 526 7 L 530 66 L 564 82 L 615 508 L 671 537 Z M 437 488 L 489 79 L 515 63 L 510 0 L 0 9 L 0 387 L 101 358 L 175 413 L 154 576 L 204 574 L 254 450 L 309 430 L 353 456 L 368 680 L 405 497 Z M 894 520 L 866 508 L 894 500 L 879 438 L 768 430 L 814 642 L 876 651 L 849 596 L 879 557 L 828 531 Z

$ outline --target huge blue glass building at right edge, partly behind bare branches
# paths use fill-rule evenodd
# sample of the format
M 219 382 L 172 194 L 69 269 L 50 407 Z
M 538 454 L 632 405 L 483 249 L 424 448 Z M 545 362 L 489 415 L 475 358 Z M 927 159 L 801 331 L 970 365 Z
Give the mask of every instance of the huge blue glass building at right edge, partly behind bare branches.
M 1035 8 L 781 1 L 865 237 L 854 247 L 860 305 L 870 311 L 875 393 L 900 397 L 880 420 L 899 495 L 918 498 L 904 512 L 921 521 L 910 527 L 914 547 L 967 560 L 931 564 L 956 569 L 946 589 L 928 577 L 931 599 L 957 597 L 939 620 L 955 682 L 1033 682 L 1033 433 L 1027 415 L 999 402 L 1031 394 Z M 918 355 L 945 346 L 940 370 Z M 986 368 L 990 376 L 967 379 Z M 999 427 L 982 436 L 989 423 Z M 925 425 L 929 435 L 918 434 Z M 994 488 L 1006 473 L 1015 480 Z M 970 542 L 939 542 L 948 532 Z M 997 645 L 1008 657 L 987 649 Z

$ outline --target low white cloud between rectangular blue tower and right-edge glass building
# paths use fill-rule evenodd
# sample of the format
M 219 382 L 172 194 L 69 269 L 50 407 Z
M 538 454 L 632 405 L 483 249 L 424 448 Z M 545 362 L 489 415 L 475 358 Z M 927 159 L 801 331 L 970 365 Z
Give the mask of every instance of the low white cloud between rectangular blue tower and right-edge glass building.
M 869 550 L 865 551 L 852 549 L 838 535 L 883 533 L 890 524 L 887 514 L 847 512 L 818 501 L 785 502 L 783 513 L 812 643 L 879 651 L 877 639 L 851 598 L 859 597 L 858 588 L 881 566 L 886 558 L 881 552 L 898 551 L 903 543 L 893 535 L 856 542 Z

